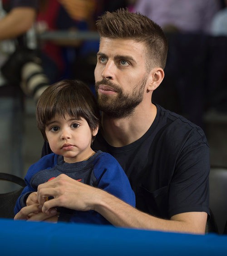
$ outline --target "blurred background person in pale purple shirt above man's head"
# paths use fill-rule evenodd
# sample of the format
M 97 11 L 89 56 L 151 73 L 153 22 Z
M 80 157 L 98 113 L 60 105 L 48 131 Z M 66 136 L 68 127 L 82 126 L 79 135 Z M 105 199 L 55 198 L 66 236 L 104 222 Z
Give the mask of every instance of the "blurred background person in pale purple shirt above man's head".
M 213 16 L 220 10 L 217 0 L 137 0 L 134 12 L 158 23 L 163 30 L 210 33 Z

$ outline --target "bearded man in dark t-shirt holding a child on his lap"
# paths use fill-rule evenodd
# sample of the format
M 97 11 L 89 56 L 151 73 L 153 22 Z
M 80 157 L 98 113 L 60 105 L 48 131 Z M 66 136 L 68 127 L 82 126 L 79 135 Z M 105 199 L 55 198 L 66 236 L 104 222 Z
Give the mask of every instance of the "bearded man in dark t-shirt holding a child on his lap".
M 151 101 L 164 77 L 168 46 L 163 31 L 127 10 L 107 12 L 97 27 L 100 46 L 94 75 L 102 130 L 93 148 L 109 152 L 122 165 L 137 209 L 60 175 L 39 185 L 37 204 L 23 208 L 15 219 L 35 212 L 30 220 L 44 220 L 56 215 L 54 207 L 65 206 L 95 210 L 116 226 L 204 233 L 209 214 L 205 135 Z M 44 202 L 50 195 L 54 199 Z

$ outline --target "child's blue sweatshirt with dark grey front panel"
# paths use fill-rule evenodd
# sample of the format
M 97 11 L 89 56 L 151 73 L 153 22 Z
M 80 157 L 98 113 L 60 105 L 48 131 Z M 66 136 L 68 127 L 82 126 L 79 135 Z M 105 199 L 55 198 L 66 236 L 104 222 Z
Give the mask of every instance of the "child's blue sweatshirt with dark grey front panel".
M 103 189 L 110 194 L 135 206 L 135 195 L 118 161 L 108 153 L 98 151 L 86 161 L 73 164 L 65 163 L 63 156 L 48 154 L 31 165 L 25 175 L 26 187 L 22 191 L 15 205 L 15 214 L 26 206 L 26 200 L 31 192 L 37 191 L 39 184 L 47 182 L 60 174 L 66 174 L 72 179 L 84 184 Z M 58 208 L 59 221 L 110 224 L 102 215 L 91 211 L 70 210 Z

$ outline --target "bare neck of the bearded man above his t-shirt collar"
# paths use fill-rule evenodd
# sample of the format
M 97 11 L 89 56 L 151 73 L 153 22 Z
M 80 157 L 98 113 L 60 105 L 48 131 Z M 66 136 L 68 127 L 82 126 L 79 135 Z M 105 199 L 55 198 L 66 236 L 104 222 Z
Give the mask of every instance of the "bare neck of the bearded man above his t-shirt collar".
M 157 108 L 153 104 L 149 108 L 137 108 L 126 118 L 110 118 L 106 113 L 102 113 L 102 135 L 111 146 L 126 146 L 148 131 L 156 113 Z

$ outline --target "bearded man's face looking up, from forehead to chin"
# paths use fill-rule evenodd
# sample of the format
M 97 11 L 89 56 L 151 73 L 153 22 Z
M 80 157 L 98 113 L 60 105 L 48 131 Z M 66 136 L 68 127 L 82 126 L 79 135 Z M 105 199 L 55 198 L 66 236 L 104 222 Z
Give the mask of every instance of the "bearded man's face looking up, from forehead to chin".
M 143 101 L 147 73 L 144 46 L 102 38 L 94 71 L 99 108 L 112 118 L 130 116 Z

